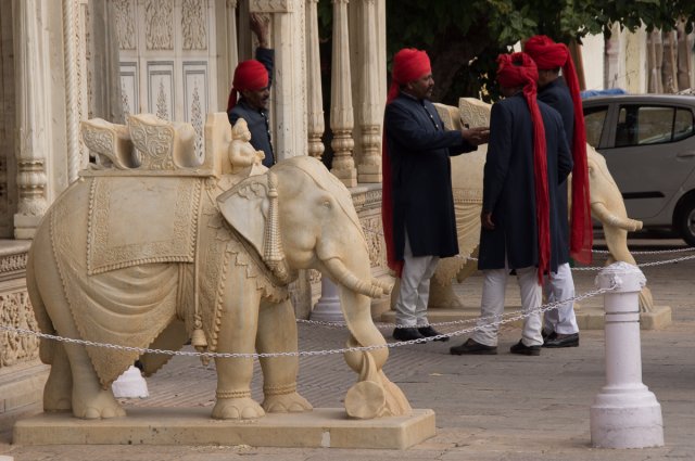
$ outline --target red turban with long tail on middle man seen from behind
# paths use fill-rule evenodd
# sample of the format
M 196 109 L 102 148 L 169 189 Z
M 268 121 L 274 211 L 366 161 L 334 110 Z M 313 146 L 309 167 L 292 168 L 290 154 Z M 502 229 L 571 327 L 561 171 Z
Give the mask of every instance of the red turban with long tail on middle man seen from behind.
M 535 220 L 539 229 L 539 283 L 551 267 L 551 200 L 547 184 L 547 146 L 545 127 L 539 108 L 536 80 L 539 71 L 526 53 L 500 54 L 497 81 L 503 87 L 523 87 L 533 123 L 533 182 L 535 183 Z

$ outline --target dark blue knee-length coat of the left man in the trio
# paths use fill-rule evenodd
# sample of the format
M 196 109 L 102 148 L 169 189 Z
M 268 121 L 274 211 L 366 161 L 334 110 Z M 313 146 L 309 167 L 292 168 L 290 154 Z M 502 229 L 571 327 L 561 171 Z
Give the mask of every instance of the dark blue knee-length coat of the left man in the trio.
M 395 258 L 407 230 L 414 256 L 458 254 L 450 155 L 475 151 L 459 131 L 446 131 L 428 100 L 401 93 L 384 113 L 391 163 Z

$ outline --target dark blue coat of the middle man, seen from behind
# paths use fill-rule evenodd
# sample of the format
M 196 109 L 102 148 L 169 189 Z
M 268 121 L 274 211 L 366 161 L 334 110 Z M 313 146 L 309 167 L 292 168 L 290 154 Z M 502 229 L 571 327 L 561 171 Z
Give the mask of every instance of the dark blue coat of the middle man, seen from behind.
M 547 146 L 551 221 L 551 270 L 559 264 L 557 184 L 572 169 L 560 115 L 539 102 Z M 533 179 L 533 125 L 521 93 L 495 103 L 490 115 L 490 143 L 483 177 L 482 209 L 492 212 L 494 230 L 480 233 L 479 269 L 538 266 L 539 243 Z M 567 216 L 563 219 L 567 220 Z

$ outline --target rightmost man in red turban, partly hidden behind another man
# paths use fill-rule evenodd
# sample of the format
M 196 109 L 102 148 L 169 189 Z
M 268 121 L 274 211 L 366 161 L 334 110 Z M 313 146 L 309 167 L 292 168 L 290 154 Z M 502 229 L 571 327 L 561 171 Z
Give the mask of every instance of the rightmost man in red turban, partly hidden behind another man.
M 545 284 L 547 300 L 561 302 L 574 297 L 574 281 L 569 267 L 570 256 L 574 260 L 591 262 L 593 228 L 589 196 L 589 168 L 586 165 L 586 132 L 582 102 L 579 94 L 579 78 L 569 49 L 546 36 L 531 37 L 523 47 L 539 67 L 539 101 L 559 112 L 563 117 L 567 143 L 572 152 L 572 209 L 570 229 L 568 220 L 560 219 L 563 242 L 560 264 Z M 560 78 L 563 77 L 567 85 Z M 558 216 L 568 217 L 567 182 L 559 185 Z M 567 302 L 557 309 L 545 312 L 543 336 L 545 347 L 579 346 L 579 326 L 574 317 L 574 303 Z

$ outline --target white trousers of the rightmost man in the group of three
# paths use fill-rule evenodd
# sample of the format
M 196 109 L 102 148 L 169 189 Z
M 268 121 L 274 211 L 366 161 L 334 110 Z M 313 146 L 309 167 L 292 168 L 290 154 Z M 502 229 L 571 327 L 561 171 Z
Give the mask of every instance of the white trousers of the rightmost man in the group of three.
M 565 262 L 558 266 L 557 272 L 553 272 L 551 276 L 551 280 L 545 282 L 548 303 L 574 297 L 574 281 L 572 280 L 572 270 L 569 264 Z M 565 303 L 557 309 L 545 312 L 544 329 L 547 333 L 578 333 L 579 326 L 574 317 L 574 302 Z

